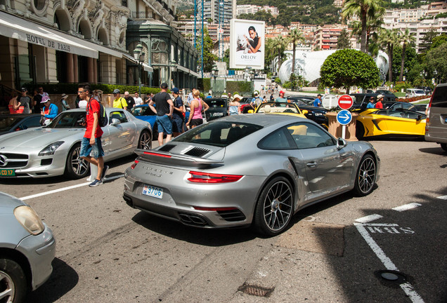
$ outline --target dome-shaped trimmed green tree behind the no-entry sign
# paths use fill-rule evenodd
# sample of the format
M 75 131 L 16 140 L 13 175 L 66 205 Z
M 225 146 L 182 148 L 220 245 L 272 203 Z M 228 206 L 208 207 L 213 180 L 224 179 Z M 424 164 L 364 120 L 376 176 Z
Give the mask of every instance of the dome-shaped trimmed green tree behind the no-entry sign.
M 323 86 L 373 88 L 380 84 L 379 69 L 370 55 L 359 50 L 337 50 L 326 58 L 320 69 Z

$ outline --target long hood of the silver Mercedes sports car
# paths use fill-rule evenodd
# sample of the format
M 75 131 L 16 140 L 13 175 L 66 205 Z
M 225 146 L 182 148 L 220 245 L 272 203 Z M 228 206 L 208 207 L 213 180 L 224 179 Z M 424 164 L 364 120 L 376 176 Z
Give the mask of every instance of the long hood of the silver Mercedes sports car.
M 21 130 L 18 133 L 9 133 L 0 136 L 0 152 L 4 148 L 22 149 L 32 147 L 46 147 L 56 141 L 66 141 L 67 137 L 85 133 L 85 128 L 34 128 Z

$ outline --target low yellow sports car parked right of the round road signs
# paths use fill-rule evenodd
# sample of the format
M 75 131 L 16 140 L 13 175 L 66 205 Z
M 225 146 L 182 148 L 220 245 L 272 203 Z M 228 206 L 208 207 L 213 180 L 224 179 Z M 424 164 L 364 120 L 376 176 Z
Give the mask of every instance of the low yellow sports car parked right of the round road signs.
M 366 109 L 359 112 L 356 137 L 425 135 L 427 116 L 408 109 Z

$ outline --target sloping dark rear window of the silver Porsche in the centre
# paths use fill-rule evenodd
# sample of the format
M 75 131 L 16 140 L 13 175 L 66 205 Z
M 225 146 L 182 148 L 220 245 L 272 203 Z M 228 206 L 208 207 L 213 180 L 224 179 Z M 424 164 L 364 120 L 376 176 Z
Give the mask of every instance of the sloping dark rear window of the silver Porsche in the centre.
M 188 130 L 173 141 L 226 147 L 261 128 L 250 123 L 216 121 Z

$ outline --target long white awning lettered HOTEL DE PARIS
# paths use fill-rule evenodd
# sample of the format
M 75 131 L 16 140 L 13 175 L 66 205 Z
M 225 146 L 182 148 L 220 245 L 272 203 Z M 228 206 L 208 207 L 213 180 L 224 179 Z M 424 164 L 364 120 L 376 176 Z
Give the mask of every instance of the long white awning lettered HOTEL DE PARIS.
M 117 58 L 122 58 L 123 55 L 117 50 L 84 41 L 57 29 L 52 29 L 1 11 L 0 35 L 89 58 L 97 59 L 99 51 Z

